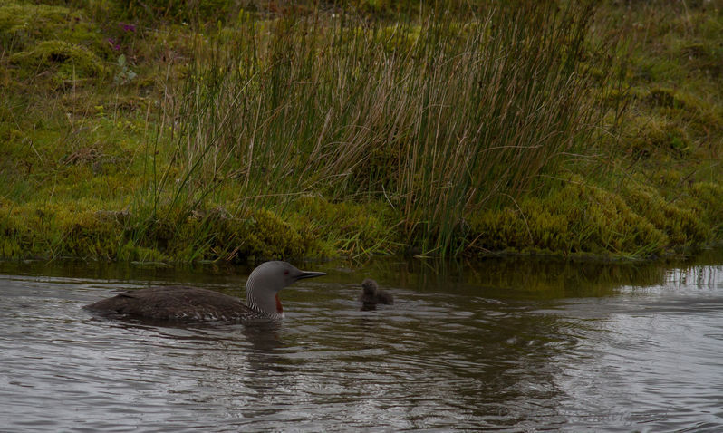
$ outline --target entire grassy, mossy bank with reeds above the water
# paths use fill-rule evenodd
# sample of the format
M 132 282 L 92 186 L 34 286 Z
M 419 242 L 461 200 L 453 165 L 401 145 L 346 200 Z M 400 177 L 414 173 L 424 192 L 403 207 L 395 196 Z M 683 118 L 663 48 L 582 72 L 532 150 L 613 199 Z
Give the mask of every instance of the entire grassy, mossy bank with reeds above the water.
M 10 0 L 0 258 L 686 255 L 723 5 Z

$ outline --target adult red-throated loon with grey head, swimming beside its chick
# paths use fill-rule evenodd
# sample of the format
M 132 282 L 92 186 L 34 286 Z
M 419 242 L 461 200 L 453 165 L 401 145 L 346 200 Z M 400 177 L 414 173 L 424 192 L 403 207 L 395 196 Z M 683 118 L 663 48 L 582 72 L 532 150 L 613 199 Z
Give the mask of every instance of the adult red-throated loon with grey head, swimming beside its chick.
M 325 275 L 306 272 L 286 262 L 265 262 L 246 281 L 246 304 L 240 299 L 194 287 L 150 287 L 120 293 L 84 308 L 112 316 L 160 321 L 244 322 L 284 318 L 278 293 L 304 278 Z

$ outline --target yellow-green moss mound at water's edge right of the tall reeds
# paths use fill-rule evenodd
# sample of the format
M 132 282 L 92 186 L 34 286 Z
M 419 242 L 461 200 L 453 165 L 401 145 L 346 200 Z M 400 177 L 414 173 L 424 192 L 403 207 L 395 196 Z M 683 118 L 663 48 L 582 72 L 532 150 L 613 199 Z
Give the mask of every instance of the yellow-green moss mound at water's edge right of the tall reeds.
M 554 251 L 563 255 L 659 254 L 666 236 L 636 214 L 622 197 L 569 183 L 544 199 L 470 216 L 476 241 L 470 247 L 495 252 Z

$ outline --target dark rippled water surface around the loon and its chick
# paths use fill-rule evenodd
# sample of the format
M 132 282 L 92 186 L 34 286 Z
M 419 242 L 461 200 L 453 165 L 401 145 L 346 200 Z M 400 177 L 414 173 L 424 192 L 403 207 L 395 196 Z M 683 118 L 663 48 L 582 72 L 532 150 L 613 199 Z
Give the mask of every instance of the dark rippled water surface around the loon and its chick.
M 284 290 L 279 324 L 81 309 L 241 294 L 248 269 L 0 264 L 3 431 L 723 431 L 723 251 L 672 265 L 376 260 Z M 376 278 L 395 305 L 360 312 Z

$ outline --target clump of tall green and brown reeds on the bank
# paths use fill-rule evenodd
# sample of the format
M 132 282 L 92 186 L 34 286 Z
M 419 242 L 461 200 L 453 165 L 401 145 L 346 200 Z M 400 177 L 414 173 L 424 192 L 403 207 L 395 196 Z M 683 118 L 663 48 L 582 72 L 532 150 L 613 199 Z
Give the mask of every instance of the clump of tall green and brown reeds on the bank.
M 398 24 L 242 18 L 171 91 L 178 180 L 161 187 L 187 210 L 220 186 L 244 207 L 383 200 L 411 245 L 457 254 L 468 216 L 583 151 L 602 115 L 580 73 L 592 4 L 544 3 Z

